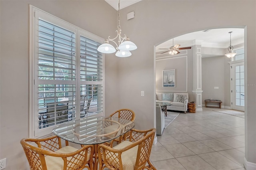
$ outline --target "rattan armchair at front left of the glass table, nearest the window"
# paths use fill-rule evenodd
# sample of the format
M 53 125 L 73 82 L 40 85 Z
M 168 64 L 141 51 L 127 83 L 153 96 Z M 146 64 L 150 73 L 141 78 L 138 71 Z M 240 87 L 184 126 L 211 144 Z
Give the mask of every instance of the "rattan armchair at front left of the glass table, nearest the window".
M 62 147 L 61 139 L 52 136 L 43 139 L 24 138 L 20 140 L 30 170 L 82 170 L 93 168 L 93 145 L 81 145 L 77 149 L 68 146 Z

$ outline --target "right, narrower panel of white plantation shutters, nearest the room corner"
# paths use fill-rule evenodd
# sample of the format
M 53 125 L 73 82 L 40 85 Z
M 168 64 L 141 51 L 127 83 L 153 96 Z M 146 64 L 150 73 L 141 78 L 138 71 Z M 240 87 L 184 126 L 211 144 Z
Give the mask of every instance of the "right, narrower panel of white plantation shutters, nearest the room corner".
M 100 43 L 80 36 L 80 89 L 90 103 L 91 113 L 101 113 L 103 109 L 102 54 L 97 51 Z

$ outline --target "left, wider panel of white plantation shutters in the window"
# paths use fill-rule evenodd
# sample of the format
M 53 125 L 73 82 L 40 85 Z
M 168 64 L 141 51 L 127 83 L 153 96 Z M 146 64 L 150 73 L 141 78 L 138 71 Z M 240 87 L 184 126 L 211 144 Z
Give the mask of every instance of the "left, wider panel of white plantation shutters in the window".
M 76 35 L 39 19 L 39 129 L 68 121 L 76 90 Z M 71 117 L 69 119 L 74 119 Z

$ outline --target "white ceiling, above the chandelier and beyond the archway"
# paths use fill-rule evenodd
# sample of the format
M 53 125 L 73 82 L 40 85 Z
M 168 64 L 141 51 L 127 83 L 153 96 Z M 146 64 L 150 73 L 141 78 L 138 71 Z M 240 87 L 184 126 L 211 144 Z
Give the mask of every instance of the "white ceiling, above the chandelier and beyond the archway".
M 105 0 L 114 9 L 118 10 L 118 0 Z M 141 0 L 120 0 L 120 9 L 135 4 Z M 192 45 L 201 45 L 202 47 L 214 47 L 214 48 L 228 48 L 230 45 L 230 34 L 231 32 L 231 43 L 232 45 L 238 45 L 244 43 L 244 29 L 241 28 L 222 28 L 212 29 L 207 32 L 198 31 L 189 34 L 184 34 L 174 38 L 174 45 L 180 44 L 180 47 L 187 47 Z M 163 33 L 164 34 L 164 33 Z M 166 37 L 167 38 L 167 37 Z M 156 52 L 163 51 L 159 48 L 169 48 L 172 46 L 172 39 L 161 43 L 156 46 Z

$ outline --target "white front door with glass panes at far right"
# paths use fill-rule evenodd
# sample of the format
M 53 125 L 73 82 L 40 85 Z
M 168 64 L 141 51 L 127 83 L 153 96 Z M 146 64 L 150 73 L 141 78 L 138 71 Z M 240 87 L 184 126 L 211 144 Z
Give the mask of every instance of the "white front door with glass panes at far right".
M 244 111 L 244 62 L 232 64 L 232 109 Z

